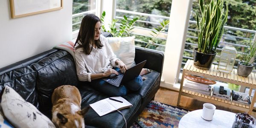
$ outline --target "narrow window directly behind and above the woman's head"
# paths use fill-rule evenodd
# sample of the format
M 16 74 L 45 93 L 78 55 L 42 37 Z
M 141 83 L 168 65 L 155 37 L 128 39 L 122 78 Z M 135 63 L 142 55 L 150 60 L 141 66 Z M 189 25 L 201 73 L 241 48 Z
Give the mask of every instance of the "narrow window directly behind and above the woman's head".
M 84 15 L 95 12 L 96 0 L 73 0 L 72 31 L 79 30 Z

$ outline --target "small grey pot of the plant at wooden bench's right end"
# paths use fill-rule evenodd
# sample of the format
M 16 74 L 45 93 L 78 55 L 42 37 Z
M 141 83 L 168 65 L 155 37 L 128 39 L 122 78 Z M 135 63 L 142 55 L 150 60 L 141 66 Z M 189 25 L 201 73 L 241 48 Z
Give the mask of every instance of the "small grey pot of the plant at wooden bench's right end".
M 253 64 L 250 64 L 250 66 L 245 66 L 241 64 L 242 62 L 238 62 L 237 64 L 237 73 L 239 76 L 247 77 L 250 75 L 250 73 L 253 70 Z

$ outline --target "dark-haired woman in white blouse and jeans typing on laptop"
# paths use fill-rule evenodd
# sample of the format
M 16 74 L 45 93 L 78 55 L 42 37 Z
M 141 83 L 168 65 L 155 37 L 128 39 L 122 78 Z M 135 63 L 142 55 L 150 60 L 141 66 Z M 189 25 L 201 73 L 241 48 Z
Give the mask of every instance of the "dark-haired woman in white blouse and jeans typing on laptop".
M 143 85 L 141 75 L 148 73 L 147 69 L 143 69 L 140 76 L 122 87 L 115 87 L 101 79 L 111 74 L 118 75 L 118 70 L 124 73 L 127 67 L 116 58 L 105 37 L 100 35 L 100 29 L 99 17 L 93 14 L 84 16 L 74 46 L 79 81 L 88 81 L 91 87 L 109 96 L 125 96 L 128 90 L 139 90 Z

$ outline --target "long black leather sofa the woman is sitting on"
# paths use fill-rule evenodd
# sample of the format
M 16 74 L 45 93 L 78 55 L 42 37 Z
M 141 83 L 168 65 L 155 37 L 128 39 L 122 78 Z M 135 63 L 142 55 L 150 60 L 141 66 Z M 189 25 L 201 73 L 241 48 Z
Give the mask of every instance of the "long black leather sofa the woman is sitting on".
M 151 69 L 152 72 L 143 76 L 147 79 L 140 90 L 123 96 L 133 105 L 131 108 L 121 110 L 128 126 L 132 125 L 151 99 L 154 99 L 154 95 L 160 86 L 163 70 L 163 53 L 136 48 L 135 54 L 135 62 L 139 63 L 147 60 L 144 67 Z M 72 55 L 61 49 L 50 49 L 0 68 L 0 91 L 5 86 L 14 88 L 26 101 L 35 105 L 50 119 L 52 92 L 56 87 L 65 84 L 78 87 L 82 97 L 81 108 L 109 97 L 84 83 L 81 84 L 76 76 Z M 88 127 L 125 128 L 125 121 L 118 112 L 112 112 L 100 117 L 90 108 L 84 116 L 84 121 Z

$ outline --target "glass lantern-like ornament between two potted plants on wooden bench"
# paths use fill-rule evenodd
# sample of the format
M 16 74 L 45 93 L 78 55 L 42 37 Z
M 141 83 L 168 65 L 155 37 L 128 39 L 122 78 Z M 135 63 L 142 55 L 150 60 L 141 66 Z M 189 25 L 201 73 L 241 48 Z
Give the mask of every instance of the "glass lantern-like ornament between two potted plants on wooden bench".
M 236 48 L 225 46 L 221 50 L 221 57 L 218 64 L 218 70 L 224 73 L 230 73 L 233 70 L 236 61 Z

